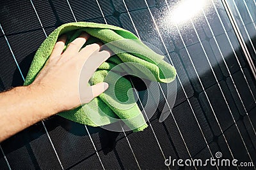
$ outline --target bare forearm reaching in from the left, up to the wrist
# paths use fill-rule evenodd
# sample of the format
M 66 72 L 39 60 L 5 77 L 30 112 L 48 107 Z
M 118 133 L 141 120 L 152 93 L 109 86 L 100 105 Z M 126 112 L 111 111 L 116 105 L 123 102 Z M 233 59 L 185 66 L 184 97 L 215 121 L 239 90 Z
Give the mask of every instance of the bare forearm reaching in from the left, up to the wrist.
M 54 115 L 57 111 L 52 96 L 40 90 L 39 87 L 16 87 L 1 93 L 0 141 Z

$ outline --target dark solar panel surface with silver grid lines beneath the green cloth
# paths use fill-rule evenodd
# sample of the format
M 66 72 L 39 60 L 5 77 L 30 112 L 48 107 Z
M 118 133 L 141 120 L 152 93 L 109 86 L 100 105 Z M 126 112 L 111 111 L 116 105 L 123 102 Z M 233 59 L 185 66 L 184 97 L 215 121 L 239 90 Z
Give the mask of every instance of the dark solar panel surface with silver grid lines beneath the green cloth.
M 202 169 L 168 167 L 164 160 L 205 160 L 216 152 L 256 164 L 256 2 L 207 0 L 202 8 L 183 8 L 190 15 L 198 8 L 195 17 L 179 10 L 177 20 L 173 12 L 182 3 L 0 1 L 1 91 L 22 85 L 42 41 L 67 22 L 123 27 L 157 46 L 177 69 L 177 99 L 164 122 L 166 85 L 158 83 L 161 101 L 143 132 L 111 132 L 55 115 L 3 141 L 1 169 Z M 147 93 L 138 96 L 143 110 Z

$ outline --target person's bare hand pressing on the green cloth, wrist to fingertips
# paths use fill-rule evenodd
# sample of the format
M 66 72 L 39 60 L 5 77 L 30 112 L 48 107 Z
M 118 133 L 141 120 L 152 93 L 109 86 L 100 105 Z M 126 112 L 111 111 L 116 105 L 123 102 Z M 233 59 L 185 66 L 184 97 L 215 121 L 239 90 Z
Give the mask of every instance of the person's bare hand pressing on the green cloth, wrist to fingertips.
M 36 92 L 40 90 L 40 94 L 49 96 L 47 100 L 54 106 L 55 113 L 89 103 L 108 89 L 108 83 L 105 82 L 88 86 L 92 74 L 110 57 L 106 50 L 99 52 L 100 45 L 96 43 L 81 49 L 89 37 L 83 32 L 63 52 L 66 36 L 60 36 L 44 68 L 29 85 Z M 79 84 L 79 81 L 82 83 Z M 80 89 L 83 90 L 80 93 L 79 85 L 82 85 Z

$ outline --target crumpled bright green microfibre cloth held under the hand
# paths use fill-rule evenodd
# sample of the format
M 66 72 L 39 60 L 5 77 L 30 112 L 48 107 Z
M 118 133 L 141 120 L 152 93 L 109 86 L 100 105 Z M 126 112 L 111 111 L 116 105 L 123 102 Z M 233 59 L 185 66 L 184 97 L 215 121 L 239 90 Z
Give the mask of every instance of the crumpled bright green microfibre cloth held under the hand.
M 38 48 L 24 85 L 29 85 L 35 80 L 36 75 L 44 67 L 45 62 L 51 55 L 52 49 L 61 34 L 67 34 L 67 47 L 68 43 L 76 39 L 82 31 L 91 35 L 86 45 L 100 40 L 104 44 L 110 43 L 108 47 L 113 52 L 120 52 L 104 62 L 95 71 L 95 74 L 90 80 L 90 85 L 94 85 L 106 81 L 104 78 L 109 75 L 109 89 L 111 87 L 115 88 L 113 92 L 109 92 L 111 91 L 109 89 L 106 90 L 104 94 L 100 94 L 99 97 L 96 97 L 88 104 L 79 106 L 74 110 L 58 113 L 58 115 L 68 120 L 93 127 L 108 125 L 122 119 L 133 131 L 143 131 L 147 127 L 147 123 L 141 114 L 140 108 L 136 104 L 134 96 L 131 95 L 131 90 L 129 90 L 132 88 L 131 80 L 120 76 L 120 74 L 127 72 L 129 69 L 134 74 L 141 72 L 140 75 L 144 76 L 142 78 L 169 83 L 175 79 L 176 71 L 173 66 L 163 60 L 163 55 L 157 54 L 143 44 L 134 34 L 120 27 L 91 22 L 76 22 L 61 25 Z M 129 41 L 131 39 L 134 41 Z M 111 43 L 113 41 L 117 41 L 117 43 Z M 110 71 L 118 64 L 127 62 L 137 64 L 138 67 L 127 66 L 127 69 L 121 69 L 119 73 L 118 71 Z M 148 73 L 142 73 L 146 70 L 145 68 L 154 76 L 153 79 L 150 76 L 147 77 Z M 128 108 L 123 108 L 122 104 L 127 101 L 132 105 L 129 105 Z

